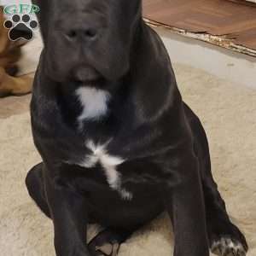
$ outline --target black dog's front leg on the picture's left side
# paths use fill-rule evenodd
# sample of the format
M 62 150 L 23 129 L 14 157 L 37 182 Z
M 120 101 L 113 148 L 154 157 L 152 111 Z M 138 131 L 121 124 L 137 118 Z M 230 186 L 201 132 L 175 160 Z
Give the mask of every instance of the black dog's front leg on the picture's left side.
M 57 256 L 89 256 L 86 245 L 87 212 L 84 198 L 45 174 L 45 190 L 54 224 Z

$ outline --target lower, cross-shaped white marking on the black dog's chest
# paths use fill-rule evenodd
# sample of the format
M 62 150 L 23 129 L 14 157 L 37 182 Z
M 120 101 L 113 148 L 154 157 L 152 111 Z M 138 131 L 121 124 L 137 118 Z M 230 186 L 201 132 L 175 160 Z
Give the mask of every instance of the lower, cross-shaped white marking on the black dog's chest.
M 123 199 L 131 200 L 131 193 L 121 188 L 121 175 L 116 170 L 116 167 L 121 165 L 125 160 L 108 154 L 107 146 L 108 143 L 96 145 L 92 141 L 86 142 L 86 147 L 91 150 L 92 154 L 86 156 L 85 160 L 79 166 L 92 168 L 97 163 L 100 163 L 104 169 L 110 188 L 118 190 Z

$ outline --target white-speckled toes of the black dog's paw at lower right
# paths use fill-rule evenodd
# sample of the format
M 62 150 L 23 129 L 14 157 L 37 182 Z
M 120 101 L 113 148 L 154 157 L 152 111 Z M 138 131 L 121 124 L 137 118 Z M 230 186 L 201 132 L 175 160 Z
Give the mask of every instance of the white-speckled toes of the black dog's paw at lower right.
M 246 256 L 247 247 L 244 247 L 240 241 L 224 236 L 212 241 L 211 251 L 219 256 Z

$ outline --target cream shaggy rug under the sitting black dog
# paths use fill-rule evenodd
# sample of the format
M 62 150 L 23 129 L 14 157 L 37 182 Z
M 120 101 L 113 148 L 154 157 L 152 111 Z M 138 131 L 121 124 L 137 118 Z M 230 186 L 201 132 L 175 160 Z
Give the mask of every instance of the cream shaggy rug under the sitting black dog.
M 256 255 L 256 90 L 175 65 L 183 98 L 201 117 L 210 141 L 212 170 L 234 222 Z M 29 114 L 0 119 L 0 254 L 53 256 L 51 221 L 26 193 L 26 172 L 38 163 Z M 120 256 L 172 254 L 165 215 L 137 232 Z M 189 255 L 188 255 L 189 256 Z

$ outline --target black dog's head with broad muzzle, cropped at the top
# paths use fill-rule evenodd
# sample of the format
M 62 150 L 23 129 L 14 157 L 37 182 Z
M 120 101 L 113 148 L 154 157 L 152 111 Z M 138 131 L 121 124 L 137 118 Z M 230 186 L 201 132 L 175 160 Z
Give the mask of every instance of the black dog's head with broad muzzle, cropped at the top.
M 51 79 L 116 80 L 130 67 L 141 0 L 32 0 Z

